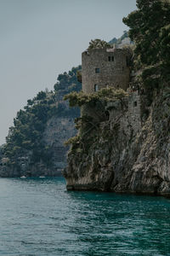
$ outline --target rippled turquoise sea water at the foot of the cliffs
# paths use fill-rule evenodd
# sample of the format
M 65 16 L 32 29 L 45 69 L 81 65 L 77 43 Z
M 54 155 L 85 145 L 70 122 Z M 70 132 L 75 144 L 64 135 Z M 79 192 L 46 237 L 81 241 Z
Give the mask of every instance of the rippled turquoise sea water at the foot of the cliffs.
M 170 200 L 0 179 L 0 255 L 170 255 Z

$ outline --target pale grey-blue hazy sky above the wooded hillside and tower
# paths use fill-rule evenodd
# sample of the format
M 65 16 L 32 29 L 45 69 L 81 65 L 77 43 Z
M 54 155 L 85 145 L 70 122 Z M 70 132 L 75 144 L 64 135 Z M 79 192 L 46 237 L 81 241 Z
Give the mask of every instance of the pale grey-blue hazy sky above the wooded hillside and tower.
M 81 64 L 91 39 L 128 30 L 135 0 L 0 0 L 0 144 L 28 99 Z

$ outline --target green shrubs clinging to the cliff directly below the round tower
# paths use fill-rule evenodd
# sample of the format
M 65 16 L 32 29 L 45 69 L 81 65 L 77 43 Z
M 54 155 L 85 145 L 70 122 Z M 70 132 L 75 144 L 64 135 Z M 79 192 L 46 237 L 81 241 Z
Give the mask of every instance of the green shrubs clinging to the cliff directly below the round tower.
M 108 111 L 105 107 L 108 102 L 120 102 L 126 105 L 126 91 L 114 88 L 99 90 L 95 93 L 71 92 L 64 97 L 69 100 L 70 107 L 82 107 L 81 118 L 75 119 L 76 128 L 79 130 L 76 137 L 71 137 L 66 145 L 71 144 L 71 151 L 77 150 L 80 154 L 88 154 L 91 143 L 98 137 L 99 124 L 108 120 Z

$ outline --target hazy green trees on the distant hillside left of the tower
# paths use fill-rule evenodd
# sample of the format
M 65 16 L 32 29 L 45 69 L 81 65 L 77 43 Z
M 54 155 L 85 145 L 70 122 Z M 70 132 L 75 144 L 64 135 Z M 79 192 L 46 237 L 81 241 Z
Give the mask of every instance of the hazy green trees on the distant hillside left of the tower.
M 42 160 L 47 166 L 53 154 L 43 140 L 43 131 L 48 119 L 52 116 L 76 118 L 80 112 L 78 108 L 69 108 L 62 101 L 65 94 L 79 91 L 82 84 L 77 81 L 77 72 L 81 66 L 73 67 L 69 73 L 59 74 L 53 91 L 40 91 L 14 118 L 14 126 L 9 128 L 6 144 L 3 146 L 3 156 L 8 163 L 17 166 L 18 158 L 30 156 L 31 162 Z

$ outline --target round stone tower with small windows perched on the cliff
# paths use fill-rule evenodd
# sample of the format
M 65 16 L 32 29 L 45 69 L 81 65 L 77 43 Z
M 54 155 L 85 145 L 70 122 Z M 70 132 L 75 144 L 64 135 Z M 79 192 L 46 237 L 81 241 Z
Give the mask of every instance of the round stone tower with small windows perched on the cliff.
M 91 49 L 82 53 L 82 91 L 127 90 L 130 70 L 125 49 Z

